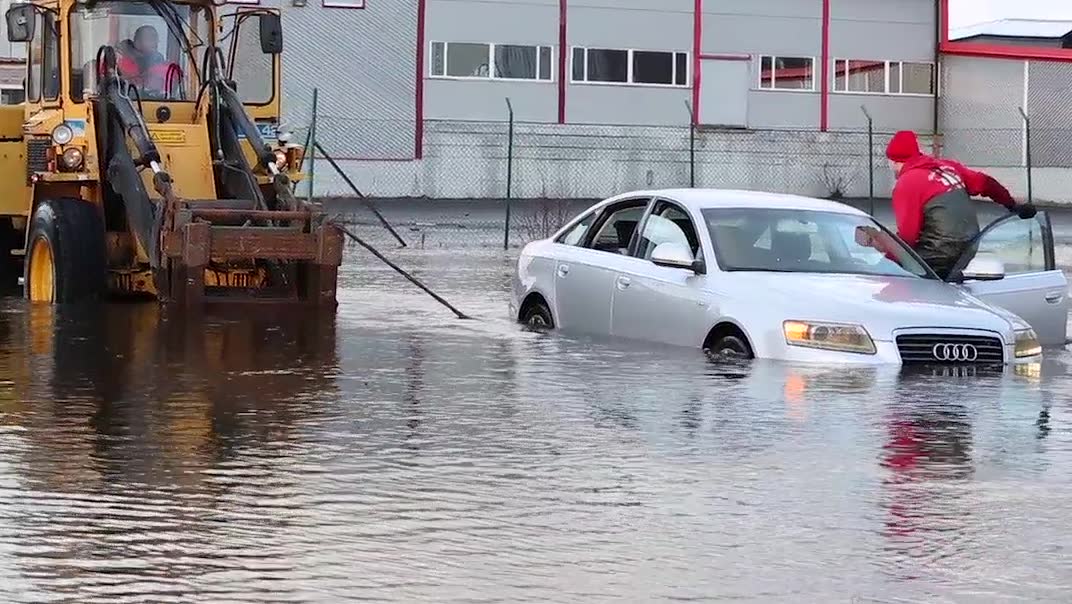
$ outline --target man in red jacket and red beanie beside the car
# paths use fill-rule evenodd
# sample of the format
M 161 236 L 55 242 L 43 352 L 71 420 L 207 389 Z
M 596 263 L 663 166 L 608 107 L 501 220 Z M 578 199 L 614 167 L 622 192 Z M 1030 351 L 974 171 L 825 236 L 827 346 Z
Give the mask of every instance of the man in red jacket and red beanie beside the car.
M 897 177 L 893 188 L 897 235 L 942 279 L 979 234 L 973 195 L 989 197 L 1021 218 L 1034 217 L 1033 206 L 1018 205 L 992 176 L 924 154 L 911 131 L 894 134 L 885 154 Z

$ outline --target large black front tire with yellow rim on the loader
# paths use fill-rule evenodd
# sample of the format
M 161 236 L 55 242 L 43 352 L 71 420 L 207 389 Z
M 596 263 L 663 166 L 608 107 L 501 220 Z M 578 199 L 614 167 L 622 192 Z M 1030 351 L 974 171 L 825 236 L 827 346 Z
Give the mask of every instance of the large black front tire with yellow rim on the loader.
M 38 204 L 26 245 L 24 293 L 30 301 L 96 301 L 107 291 L 104 219 L 95 205 L 76 198 Z

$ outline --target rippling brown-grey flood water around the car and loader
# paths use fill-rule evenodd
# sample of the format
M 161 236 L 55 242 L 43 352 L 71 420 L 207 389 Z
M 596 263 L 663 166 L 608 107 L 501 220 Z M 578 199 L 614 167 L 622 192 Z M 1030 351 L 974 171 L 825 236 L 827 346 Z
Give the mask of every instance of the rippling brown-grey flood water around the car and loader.
M 1067 602 L 1072 353 L 716 365 L 528 334 L 511 255 L 327 316 L 0 305 L 2 602 Z

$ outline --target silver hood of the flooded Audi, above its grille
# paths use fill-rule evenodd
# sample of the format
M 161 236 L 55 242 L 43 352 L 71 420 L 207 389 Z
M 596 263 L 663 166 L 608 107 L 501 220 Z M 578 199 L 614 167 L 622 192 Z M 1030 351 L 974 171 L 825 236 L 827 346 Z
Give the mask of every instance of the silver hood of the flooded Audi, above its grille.
M 734 272 L 734 290 L 756 292 L 751 304 L 783 320 L 835 321 L 864 325 L 873 338 L 892 340 L 903 328 L 963 328 L 1006 333 L 1013 314 L 970 295 L 956 285 L 934 279 Z M 744 310 L 744 309 L 743 309 Z M 747 310 L 744 310 L 748 312 Z

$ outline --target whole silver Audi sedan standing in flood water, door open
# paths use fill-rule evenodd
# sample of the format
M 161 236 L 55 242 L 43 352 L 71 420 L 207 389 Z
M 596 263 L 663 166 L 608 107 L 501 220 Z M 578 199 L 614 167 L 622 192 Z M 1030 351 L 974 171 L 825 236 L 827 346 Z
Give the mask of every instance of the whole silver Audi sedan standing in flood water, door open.
M 862 233 L 878 230 L 883 252 Z M 511 313 L 536 326 L 802 362 L 1002 364 L 1063 344 L 1048 218 L 985 229 L 956 283 L 835 202 L 635 192 L 525 246 Z M 1006 274 L 1009 270 L 1009 274 Z M 1023 318 L 1023 319 L 1022 319 Z

